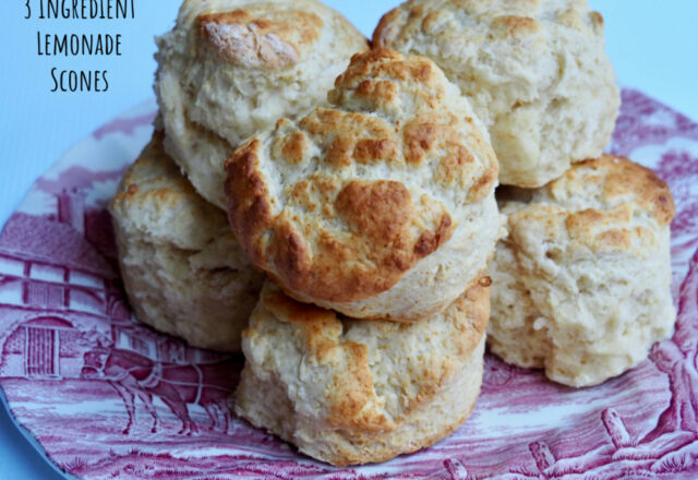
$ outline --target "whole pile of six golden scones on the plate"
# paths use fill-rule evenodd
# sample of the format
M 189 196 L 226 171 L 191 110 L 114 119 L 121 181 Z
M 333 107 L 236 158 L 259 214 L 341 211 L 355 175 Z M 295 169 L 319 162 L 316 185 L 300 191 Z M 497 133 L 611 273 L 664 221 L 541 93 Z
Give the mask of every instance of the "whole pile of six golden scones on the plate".
M 254 425 L 383 461 L 468 418 L 485 331 L 574 386 L 671 333 L 671 193 L 601 155 L 619 94 L 586 0 L 411 0 L 372 50 L 316 0 L 185 0 L 158 46 L 110 208 L 127 292 L 242 349 Z

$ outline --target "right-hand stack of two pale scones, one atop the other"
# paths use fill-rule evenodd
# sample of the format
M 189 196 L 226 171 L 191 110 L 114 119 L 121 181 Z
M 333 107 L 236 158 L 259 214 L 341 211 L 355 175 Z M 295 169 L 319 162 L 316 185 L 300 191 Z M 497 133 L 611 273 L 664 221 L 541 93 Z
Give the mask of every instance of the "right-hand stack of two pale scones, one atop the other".
M 432 58 L 513 185 L 497 191 L 508 236 L 489 269 L 492 351 L 571 386 L 647 358 L 675 320 L 674 205 L 651 171 L 601 156 L 619 106 L 601 15 L 586 0 L 410 0 L 373 46 Z

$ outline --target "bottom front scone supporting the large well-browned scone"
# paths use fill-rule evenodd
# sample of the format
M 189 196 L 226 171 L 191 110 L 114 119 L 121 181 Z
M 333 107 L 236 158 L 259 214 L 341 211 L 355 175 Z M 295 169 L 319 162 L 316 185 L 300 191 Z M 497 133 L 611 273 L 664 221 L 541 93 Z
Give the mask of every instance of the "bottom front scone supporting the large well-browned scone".
M 414 324 L 298 303 L 268 283 L 243 334 L 236 411 L 337 466 L 429 446 L 472 411 L 482 382 L 490 279 Z

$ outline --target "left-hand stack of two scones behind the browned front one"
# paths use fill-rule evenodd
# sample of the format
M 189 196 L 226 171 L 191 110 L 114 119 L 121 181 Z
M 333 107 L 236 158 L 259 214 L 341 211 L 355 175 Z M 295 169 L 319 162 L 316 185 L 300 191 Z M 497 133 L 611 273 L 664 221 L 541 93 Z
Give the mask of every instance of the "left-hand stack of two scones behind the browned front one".
M 239 352 L 264 275 L 226 218 L 226 159 L 325 104 L 368 41 L 315 0 L 185 0 L 158 47 L 156 133 L 110 205 L 124 286 L 142 322 Z

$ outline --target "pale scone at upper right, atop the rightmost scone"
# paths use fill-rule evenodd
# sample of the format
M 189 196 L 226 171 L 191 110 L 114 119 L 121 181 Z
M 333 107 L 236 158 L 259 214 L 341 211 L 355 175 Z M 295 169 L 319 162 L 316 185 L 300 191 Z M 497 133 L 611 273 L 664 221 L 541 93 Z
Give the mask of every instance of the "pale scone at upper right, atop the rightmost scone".
M 373 43 L 430 57 L 460 87 L 504 184 L 541 187 L 611 140 L 621 96 L 586 0 L 410 0 Z

